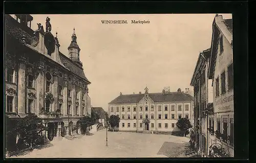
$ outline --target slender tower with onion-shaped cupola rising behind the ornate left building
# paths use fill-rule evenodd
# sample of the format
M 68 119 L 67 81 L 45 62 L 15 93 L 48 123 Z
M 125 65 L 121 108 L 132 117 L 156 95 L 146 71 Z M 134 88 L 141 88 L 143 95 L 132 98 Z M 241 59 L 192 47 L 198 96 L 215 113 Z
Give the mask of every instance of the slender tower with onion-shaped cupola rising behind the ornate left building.
M 72 41 L 71 41 L 71 43 L 70 43 L 70 45 L 69 45 L 69 48 L 68 48 L 68 50 L 69 50 L 69 58 L 73 61 L 73 62 L 75 62 L 76 64 L 78 64 L 79 66 L 81 66 L 82 67 L 82 62 L 80 61 L 80 59 L 79 59 L 79 53 L 80 53 L 80 48 L 79 48 L 79 46 L 78 46 L 78 44 L 77 44 L 77 42 L 76 42 L 76 34 L 75 34 L 75 28 L 74 28 L 74 33 L 72 34 L 72 36 L 71 36 L 71 38 L 72 38 Z

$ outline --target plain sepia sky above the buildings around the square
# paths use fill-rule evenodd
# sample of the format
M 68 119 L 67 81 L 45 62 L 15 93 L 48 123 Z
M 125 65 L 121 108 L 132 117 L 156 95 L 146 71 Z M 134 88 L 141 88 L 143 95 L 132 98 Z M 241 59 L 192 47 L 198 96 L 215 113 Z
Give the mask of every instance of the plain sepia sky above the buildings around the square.
M 222 14 L 231 18 L 231 14 Z M 215 14 L 32 15 L 32 29 L 45 29 L 50 17 L 52 34 L 58 32 L 60 51 L 68 56 L 75 27 L 84 73 L 92 82 L 93 107 L 108 109 L 122 94 L 138 94 L 190 87 L 200 51 L 210 48 Z M 102 24 L 101 20 L 127 20 L 128 24 Z M 150 20 L 150 24 L 131 24 Z

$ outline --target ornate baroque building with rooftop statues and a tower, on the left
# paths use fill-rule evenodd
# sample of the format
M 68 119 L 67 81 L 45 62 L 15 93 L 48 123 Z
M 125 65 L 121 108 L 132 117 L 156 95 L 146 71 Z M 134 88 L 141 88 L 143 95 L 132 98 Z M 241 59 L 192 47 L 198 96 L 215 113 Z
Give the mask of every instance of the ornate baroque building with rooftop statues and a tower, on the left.
M 51 33 L 50 18 L 46 30 L 40 23 L 32 30 L 32 20 L 28 14 L 5 15 L 5 111 L 9 118 L 36 114 L 51 140 L 72 134 L 79 118 L 91 115 L 91 82 L 83 72 L 75 30 L 67 57 L 59 51 L 57 33 Z

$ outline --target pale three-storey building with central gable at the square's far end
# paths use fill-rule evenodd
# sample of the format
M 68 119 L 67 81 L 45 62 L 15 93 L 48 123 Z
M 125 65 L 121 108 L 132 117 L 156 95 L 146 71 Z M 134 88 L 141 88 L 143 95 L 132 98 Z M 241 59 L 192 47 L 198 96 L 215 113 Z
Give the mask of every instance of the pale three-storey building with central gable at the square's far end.
M 109 103 L 109 116 L 120 118 L 119 131 L 172 132 L 179 130 L 177 120 L 194 121 L 193 97 L 183 92 L 149 93 L 118 96 Z

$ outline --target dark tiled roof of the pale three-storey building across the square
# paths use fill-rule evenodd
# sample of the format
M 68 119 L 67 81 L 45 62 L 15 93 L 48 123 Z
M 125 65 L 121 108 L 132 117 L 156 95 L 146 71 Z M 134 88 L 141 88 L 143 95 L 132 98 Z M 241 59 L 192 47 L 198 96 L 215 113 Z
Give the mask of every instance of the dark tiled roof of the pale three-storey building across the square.
M 162 93 L 148 94 L 148 96 L 155 102 L 178 102 L 178 101 L 190 101 L 194 98 L 183 92 L 170 92 L 170 94 L 163 95 Z M 120 95 L 109 104 L 115 103 L 138 103 L 144 94 L 132 94 L 132 95 Z

